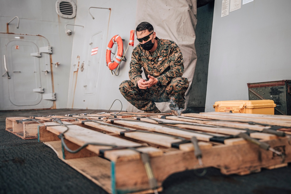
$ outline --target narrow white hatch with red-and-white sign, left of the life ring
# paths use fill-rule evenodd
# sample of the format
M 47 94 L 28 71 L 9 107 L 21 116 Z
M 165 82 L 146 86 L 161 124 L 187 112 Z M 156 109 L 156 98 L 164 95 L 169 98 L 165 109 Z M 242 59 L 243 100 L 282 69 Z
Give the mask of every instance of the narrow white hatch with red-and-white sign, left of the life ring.
M 89 56 L 86 68 L 84 94 L 94 94 L 97 88 L 97 79 L 100 69 L 103 31 L 93 34 L 89 45 Z

